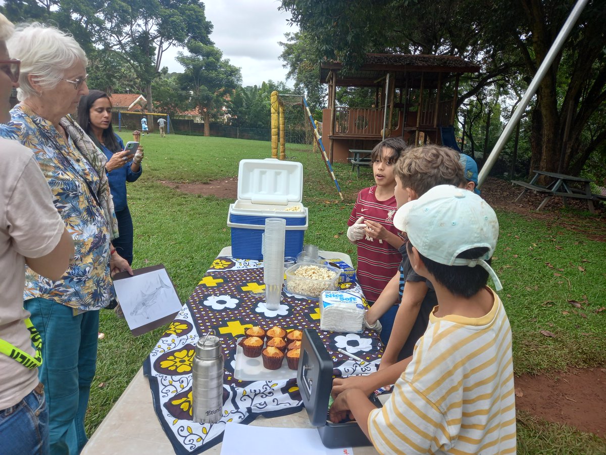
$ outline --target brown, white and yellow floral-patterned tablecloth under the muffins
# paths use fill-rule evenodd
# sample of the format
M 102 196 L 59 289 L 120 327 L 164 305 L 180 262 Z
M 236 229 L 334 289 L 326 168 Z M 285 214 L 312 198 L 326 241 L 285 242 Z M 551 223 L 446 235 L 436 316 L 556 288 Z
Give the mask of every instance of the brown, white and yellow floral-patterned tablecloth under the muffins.
M 262 262 L 216 258 L 145 360 L 156 414 L 177 454 L 201 453 L 221 442 L 227 422 L 249 423 L 258 416 L 284 416 L 302 408 L 296 379 L 247 382 L 234 377 L 236 337 L 245 329 L 253 325 L 319 328 L 318 300 L 282 291 L 280 308 L 270 311 L 264 296 L 251 294 L 261 286 Z M 211 328 L 221 338 L 225 359 L 223 417 L 215 424 L 196 423 L 191 417 L 191 366 L 198 338 Z M 335 361 L 335 376 L 369 374 L 378 368 L 381 342 L 375 332 L 318 333 Z M 347 348 L 367 363 L 360 366 L 338 348 Z

